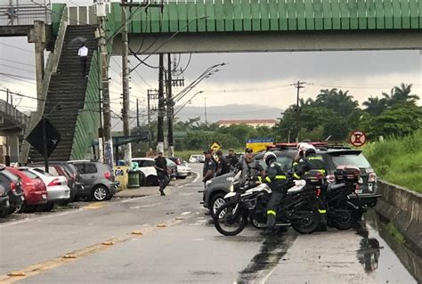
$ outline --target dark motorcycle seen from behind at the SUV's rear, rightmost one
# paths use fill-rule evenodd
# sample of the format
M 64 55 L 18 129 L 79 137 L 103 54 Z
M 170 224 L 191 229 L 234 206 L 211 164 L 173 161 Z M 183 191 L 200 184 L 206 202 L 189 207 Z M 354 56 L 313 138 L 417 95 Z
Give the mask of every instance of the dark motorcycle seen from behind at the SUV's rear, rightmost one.
M 366 211 L 360 203 L 356 189 L 361 181 L 361 171 L 356 166 L 338 166 L 334 172 L 336 183 L 329 183 L 327 187 L 327 215 L 329 226 L 338 230 L 348 230 L 356 224 L 361 214 Z M 352 202 L 350 195 L 356 196 Z M 317 192 L 317 196 L 319 193 Z

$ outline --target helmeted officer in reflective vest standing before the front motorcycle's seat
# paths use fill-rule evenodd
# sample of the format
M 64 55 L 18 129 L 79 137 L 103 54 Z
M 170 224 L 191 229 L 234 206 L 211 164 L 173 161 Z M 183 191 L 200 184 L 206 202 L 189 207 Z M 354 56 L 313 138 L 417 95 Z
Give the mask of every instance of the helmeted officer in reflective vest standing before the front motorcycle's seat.
M 282 167 L 277 163 L 277 156 L 268 151 L 264 155 L 264 161 L 267 165 L 264 183 L 272 190 L 272 196 L 267 207 L 267 224 L 265 231 L 261 235 L 270 235 L 274 232 L 277 210 L 281 200 L 286 196 L 288 190 L 288 179 Z

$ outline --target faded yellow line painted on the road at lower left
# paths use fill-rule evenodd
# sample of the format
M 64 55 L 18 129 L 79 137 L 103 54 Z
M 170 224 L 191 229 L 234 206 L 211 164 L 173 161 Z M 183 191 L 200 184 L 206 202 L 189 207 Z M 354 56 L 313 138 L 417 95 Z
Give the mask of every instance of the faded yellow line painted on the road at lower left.
M 174 219 L 174 221 L 169 221 L 167 223 L 169 226 L 173 226 L 175 224 L 182 223 L 182 221 Z M 16 281 L 20 281 L 28 277 L 36 276 L 43 272 L 51 271 L 63 265 L 76 262 L 78 259 L 84 256 L 90 256 L 90 255 L 93 255 L 94 253 L 104 251 L 106 249 L 109 249 L 110 247 L 114 247 L 114 246 L 110 246 L 109 245 L 110 243 L 117 245 L 119 243 L 126 242 L 129 239 L 140 238 L 144 233 L 150 233 L 150 232 L 158 231 L 158 230 L 160 229 L 158 229 L 158 227 L 156 226 L 151 226 L 150 228 L 143 228 L 141 235 L 134 235 L 134 234 L 128 233 L 122 237 L 107 239 L 106 241 L 94 244 L 93 246 L 84 247 L 84 248 L 78 249 L 73 252 L 69 252 L 64 255 L 64 256 L 72 256 L 72 257 L 58 256 L 53 259 L 46 260 L 39 264 L 32 264 L 32 265 L 29 265 L 28 267 L 25 267 L 19 270 L 14 270 L 14 272 L 8 272 L 7 274 L 0 275 L 0 283 L 4 283 L 4 284 L 14 283 Z

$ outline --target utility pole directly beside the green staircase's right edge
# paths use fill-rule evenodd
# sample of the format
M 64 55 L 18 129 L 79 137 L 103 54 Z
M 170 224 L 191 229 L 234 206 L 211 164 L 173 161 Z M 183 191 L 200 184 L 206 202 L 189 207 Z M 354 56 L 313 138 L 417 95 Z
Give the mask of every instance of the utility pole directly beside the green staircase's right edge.
M 106 9 L 104 0 L 97 2 L 99 57 L 101 65 L 101 93 L 102 111 L 104 121 L 104 159 L 105 163 L 113 168 L 113 141 L 111 139 L 111 117 L 110 117 L 110 88 L 109 88 L 109 58 L 107 51 L 107 38 L 105 33 Z M 111 171 L 113 174 L 114 171 Z

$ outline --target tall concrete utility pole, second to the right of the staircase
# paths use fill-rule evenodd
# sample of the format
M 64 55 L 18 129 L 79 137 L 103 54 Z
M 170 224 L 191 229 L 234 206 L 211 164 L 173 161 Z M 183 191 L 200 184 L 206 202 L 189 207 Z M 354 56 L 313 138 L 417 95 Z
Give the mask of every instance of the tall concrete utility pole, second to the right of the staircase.
M 123 135 L 130 136 L 130 126 L 129 126 L 129 47 L 127 44 L 127 22 L 126 22 L 126 1 L 122 0 L 122 85 L 123 85 Z M 132 163 L 132 147 L 131 143 L 125 145 L 125 165 L 130 166 Z

